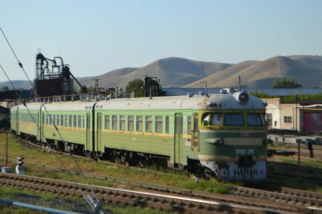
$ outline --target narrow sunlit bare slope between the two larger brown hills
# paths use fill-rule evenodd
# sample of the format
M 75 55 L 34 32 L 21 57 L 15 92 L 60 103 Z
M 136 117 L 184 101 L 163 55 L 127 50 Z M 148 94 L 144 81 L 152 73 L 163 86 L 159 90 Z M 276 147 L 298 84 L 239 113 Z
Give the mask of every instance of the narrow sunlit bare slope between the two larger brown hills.
M 222 71 L 219 71 L 217 73 L 214 73 L 210 76 L 207 76 L 205 78 L 205 80 L 207 81 L 207 85 L 214 85 L 216 84 L 217 82 L 220 82 L 222 80 L 225 80 L 227 78 L 229 78 L 230 76 L 242 71 L 243 69 L 245 68 L 248 68 L 250 66 L 253 66 L 257 63 L 259 63 L 260 61 L 243 61 L 243 62 L 240 62 L 238 64 L 235 64 L 231 67 L 228 67 Z M 188 85 L 185 85 L 184 88 L 199 88 L 200 87 L 200 80 L 197 80 L 193 83 L 190 83 Z

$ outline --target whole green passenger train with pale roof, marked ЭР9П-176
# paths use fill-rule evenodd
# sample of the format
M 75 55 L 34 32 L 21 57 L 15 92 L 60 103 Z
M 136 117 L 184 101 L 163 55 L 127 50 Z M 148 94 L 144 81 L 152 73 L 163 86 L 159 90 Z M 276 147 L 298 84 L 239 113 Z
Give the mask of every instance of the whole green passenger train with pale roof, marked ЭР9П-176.
M 58 150 L 126 165 L 164 159 L 192 177 L 260 180 L 269 143 L 265 105 L 246 91 L 26 103 L 30 114 L 24 104 L 11 108 L 11 129 Z

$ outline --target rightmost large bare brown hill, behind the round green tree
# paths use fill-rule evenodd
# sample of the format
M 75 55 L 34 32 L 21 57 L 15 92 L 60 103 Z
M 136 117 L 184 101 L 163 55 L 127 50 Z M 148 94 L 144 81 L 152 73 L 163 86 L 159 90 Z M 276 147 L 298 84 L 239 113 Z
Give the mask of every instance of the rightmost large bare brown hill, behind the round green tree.
M 249 88 L 268 88 L 276 77 L 292 77 L 304 88 L 309 88 L 311 85 L 320 85 L 322 69 L 303 63 L 301 60 L 278 56 L 247 67 L 209 87 L 235 86 L 238 84 L 238 75 Z

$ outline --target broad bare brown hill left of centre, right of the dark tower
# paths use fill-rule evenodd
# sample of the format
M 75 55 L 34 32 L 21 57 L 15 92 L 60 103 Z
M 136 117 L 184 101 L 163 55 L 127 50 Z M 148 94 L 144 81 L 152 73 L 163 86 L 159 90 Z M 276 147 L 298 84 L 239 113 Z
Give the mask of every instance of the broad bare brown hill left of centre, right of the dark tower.
M 187 85 L 198 79 L 219 72 L 232 64 L 218 62 L 200 62 L 185 58 L 164 58 L 156 60 L 147 66 L 140 68 L 123 68 L 108 72 L 100 76 L 79 78 L 81 84 L 94 86 L 93 79 L 99 80 L 99 84 L 109 86 L 125 87 L 134 78 L 143 79 L 145 75 L 156 76 L 161 80 L 163 86 Z

